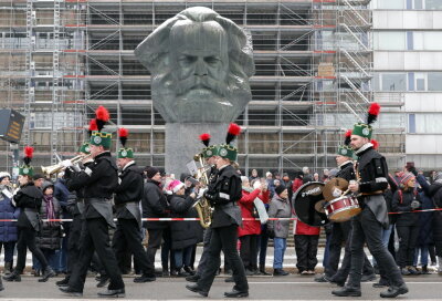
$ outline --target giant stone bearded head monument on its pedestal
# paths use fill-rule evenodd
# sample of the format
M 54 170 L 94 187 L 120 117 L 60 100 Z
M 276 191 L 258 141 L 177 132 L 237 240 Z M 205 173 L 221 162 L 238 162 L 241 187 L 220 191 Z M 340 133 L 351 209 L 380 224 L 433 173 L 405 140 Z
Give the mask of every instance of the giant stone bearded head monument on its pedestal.
M 135 50 L 151 74 L 154 107 L 166 121 L 166 172 L 187 172 L 208 132 L 222 143 L 252 98 L 251 35 L 215 11 L 193 7 L 168 19 Z

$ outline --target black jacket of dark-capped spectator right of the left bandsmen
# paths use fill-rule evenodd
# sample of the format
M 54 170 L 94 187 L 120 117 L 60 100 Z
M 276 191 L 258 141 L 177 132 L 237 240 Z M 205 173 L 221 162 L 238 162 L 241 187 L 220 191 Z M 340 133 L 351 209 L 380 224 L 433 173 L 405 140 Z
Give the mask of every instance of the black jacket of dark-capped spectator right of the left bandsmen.
M 165 194 L 162 194 L 159 183 L 147 179 L 141 199 L 144 218 L 169 217 L 170 208 Z M 167 221 L 145 221 L 143 226 L 147 229 L 166 229 Z

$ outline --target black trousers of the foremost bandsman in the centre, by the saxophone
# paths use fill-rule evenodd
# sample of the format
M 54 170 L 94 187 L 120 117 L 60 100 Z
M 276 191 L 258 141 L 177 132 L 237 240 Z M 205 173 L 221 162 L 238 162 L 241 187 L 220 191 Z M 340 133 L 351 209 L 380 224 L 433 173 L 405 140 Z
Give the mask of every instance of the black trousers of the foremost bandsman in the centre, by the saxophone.
M 245 278 L 244 266 L 236 250 L 238 225 L 212 228 L 210 246 L 208 251 L 208 263 L 203 269 L 201 278 L 198 280 L 198 287 L 203 291 L 209 291 L 212 287 L 214 277 L 221 263 L 221 250 L 228 258 L 233 272 L 235 289 L 242 292 L 249 292 L 249 283 Z

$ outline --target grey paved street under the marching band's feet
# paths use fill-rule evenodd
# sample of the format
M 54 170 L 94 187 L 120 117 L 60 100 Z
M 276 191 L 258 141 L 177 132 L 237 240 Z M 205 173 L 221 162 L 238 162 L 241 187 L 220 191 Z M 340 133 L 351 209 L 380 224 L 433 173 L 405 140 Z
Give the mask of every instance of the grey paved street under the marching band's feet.
M 6 290 L 0 292 L 1 300 L 35 300 L 48 301 L 70 299 L 63 295 L 54 282 L 60 278 L 50 279 L 46 283 L 39 283 L 34 277 L 23 277 L 22 282 L 7 282 Z M 223 299 L 224 291 L 232 288 L 225 283 L 224 277 L 218 277 L 209 293 L 211 300 Z M 410 292 L 399 300 L 441 300 L 442 277 L 438 274 L 407 278 Z M 95 280 L 91 277 L 86 281 L 82 300 L 97 299 L 101 290 L 94 287 Z M 152 283 L 136 284 L 131 277 L 125 278 L 125 300 L 203 300 L 203 298 L 188 291 L 186 280 L 177 278 L 158 279 Z M 330 291 L 336 286 L 330 283 L 316 283 L 313 277 L 291 274 L 287 277 L 251 277 L 249 300 L 350 300 L 336 298 Z M 383 289 L 373 289 L 370 283 L 362 283 L 362 297 L 357 300 L 380 300 L 379 292 Z M 101 299 L 103 300 L 103 299 Z

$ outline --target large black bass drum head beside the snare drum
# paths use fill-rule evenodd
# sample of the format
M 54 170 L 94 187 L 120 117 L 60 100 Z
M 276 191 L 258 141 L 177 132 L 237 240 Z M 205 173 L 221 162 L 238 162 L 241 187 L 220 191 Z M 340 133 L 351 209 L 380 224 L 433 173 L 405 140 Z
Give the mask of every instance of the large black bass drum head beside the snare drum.
M 324 183 L 311 181 L 301 186 L 293 196 L 292 204 L 297 218 L 308 226 L 320 227 L 328 222 L 322 206 L 317 204 L 324 204 L 323 189 Z

